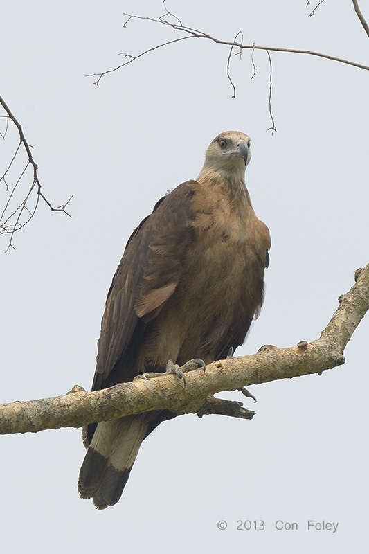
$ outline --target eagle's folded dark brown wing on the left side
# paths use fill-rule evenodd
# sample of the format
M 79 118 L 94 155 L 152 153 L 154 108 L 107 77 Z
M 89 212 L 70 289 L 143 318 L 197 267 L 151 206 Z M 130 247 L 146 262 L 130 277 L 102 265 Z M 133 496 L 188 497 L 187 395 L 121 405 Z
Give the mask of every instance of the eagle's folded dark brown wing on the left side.
M 161 198 L 127 242 L 102 316 L 93 390 L 135 375 L 134 368 L 122 370 L 119 361 L 129 355 L 145 323 L 159 313 L 179 283 L 192 232 L 192 183 Z

